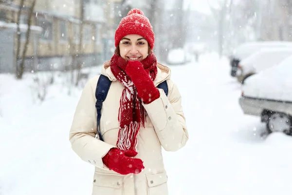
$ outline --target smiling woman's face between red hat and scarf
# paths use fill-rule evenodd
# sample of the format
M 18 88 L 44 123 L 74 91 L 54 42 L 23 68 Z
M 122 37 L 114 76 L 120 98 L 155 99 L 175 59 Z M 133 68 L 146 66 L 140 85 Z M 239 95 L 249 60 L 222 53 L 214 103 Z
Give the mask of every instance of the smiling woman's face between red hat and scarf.
M 140 35 L 127 35 L 119 43 L 120 55 L 127 61 L 142 61 L 148 56 L 148 42 Z

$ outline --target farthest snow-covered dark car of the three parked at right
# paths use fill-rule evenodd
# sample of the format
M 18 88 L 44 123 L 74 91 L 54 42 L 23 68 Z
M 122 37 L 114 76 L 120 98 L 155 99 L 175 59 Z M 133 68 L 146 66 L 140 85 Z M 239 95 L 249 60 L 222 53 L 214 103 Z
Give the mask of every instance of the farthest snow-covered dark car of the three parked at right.
M 264 48 L 281 48 L 292 47 L 292 42 L 289 41 L 253 41 L 240 44 L 235 48 L 229 57 L 231 66 L 231 76 L 236 77 L 238 63 L 255 53 L 256 51 Z

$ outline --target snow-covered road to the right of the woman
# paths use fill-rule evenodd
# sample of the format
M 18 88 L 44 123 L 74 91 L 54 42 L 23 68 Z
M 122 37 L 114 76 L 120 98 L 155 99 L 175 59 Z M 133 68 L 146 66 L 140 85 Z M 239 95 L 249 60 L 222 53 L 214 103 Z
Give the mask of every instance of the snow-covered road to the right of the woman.
M 242 114 L 240 85 L 227 63 L 206 56 L 185 73 L 173 68 L 190 139 L 178 153 L 165 154 L 172 195 L 290 195 L 292 139 L 260 137 L 265 125 Z

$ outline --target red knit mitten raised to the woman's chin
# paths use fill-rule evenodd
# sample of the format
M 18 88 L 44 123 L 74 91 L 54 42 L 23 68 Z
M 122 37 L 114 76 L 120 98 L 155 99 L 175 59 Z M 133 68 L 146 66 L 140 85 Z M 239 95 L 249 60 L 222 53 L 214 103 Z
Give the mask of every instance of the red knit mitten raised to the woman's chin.
M 137 88 L 138 96 L 144 103 L 151 103 L 160 97 L 159 90 L 154 86 L 140 61 L 128 61 L 126 73 L 132 79 Z

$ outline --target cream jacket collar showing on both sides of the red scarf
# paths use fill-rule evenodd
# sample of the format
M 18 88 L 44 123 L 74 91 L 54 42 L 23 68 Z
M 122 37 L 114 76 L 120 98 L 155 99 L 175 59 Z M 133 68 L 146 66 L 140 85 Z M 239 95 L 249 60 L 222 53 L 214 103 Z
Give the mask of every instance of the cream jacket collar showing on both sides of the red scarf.
M 110 70 L 110 60 L 106 61 L 101 68 L 101 74 L 107 76 L 111 81 L 116 81 L 117 78 L 112 74 Z M 161 63 L 157 63 L 157 76 L 154 79 L 154 85 L 157 86 L 162 83 L 164 80 L 170 79 L 171 70 L 167 66 L 164 66 Z

